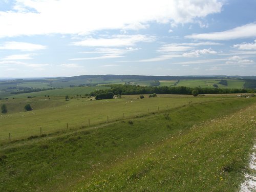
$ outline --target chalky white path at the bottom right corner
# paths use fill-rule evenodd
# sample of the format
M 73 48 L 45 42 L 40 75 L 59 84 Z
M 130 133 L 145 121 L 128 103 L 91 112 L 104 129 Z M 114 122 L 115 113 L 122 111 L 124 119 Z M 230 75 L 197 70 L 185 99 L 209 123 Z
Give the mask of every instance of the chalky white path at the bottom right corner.
M 249 173 L 245 173 L 245 180 L 241 184 L 240 192 L 256 191 L 256 144 L 249 161 Z

